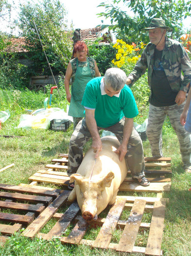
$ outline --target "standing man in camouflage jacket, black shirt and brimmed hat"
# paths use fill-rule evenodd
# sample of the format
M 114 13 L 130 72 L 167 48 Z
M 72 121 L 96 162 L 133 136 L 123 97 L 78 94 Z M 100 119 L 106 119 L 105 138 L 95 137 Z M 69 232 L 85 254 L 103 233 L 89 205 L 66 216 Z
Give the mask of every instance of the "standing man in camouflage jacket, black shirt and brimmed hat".
M 191 136 L 180 124 L 186 92 L 191 81 L 191 60 L 182 45 L 166 37 L 162 19 L 154 18 L 148 28 L 150 42 L 145 47 L 126 84 L 134 84 L 148 69 L 149 119 L 146 130 L 153 157 L 163 157 L 162 126 L 169 116 L 180 144 L 185 172 L 191 171 Z M 184 74 L 184 76 L 182 75 Z

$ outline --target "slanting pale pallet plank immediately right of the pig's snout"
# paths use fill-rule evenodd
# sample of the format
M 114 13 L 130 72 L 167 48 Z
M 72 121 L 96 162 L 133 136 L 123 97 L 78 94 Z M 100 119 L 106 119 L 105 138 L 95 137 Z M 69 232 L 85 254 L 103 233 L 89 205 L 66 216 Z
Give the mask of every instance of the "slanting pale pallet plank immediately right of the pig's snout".
M 122 214 L 123 207 L 125 205 L 125 198 L 116 198 L 114 206 L 110 209 L 105 222 L 95 239 L 93 246 L 107 249 L 112 238 L 113 230 L 115 229 L 118 220 Z

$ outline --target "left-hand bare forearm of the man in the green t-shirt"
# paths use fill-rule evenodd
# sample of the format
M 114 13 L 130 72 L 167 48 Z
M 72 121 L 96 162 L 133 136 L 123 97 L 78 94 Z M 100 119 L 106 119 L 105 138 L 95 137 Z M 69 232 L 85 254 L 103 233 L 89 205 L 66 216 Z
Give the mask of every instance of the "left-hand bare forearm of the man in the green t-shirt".
M 100 151 L 102 151 L 102 141 L 98 133 L 97 123 L 95 120 L 95 109 L 86 108 L 86 124 L 93 140 L 93 152 L 96 153 L 95 158 L 97 158 Z

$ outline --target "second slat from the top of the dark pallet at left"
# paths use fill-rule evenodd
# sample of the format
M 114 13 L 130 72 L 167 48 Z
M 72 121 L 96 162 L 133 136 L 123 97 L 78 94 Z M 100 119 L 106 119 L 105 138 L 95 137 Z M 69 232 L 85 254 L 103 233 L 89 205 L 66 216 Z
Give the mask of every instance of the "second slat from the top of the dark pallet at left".
M 52 197 L 25 195 L 25 194 L 21 194 L 21 193 L 9 193 L 9 192 L 3 192 L 3 191 L 0 191 L 0 198 L 6 198 L 6 199 L 18 200 L 18 201 L 43 203 L 46 205 L 50 204 L 52 202 Z

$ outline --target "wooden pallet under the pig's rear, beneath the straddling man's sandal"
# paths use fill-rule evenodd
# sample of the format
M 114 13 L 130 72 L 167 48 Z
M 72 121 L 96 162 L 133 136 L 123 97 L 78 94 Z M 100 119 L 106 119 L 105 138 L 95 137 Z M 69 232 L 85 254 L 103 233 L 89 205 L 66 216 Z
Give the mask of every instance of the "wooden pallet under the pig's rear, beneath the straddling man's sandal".
M 32 182 L 54 183 L 68 186 L 69 177 L 66 170 L 68 169 L 68 155 L 60 154 L 61 159 L 52 159 L 55 164 L 47 164 L 46 170 L 39 170 L 34 175 L 29 177 Z M 167 174 L 172 174 L 171 158 L 145 158 L 145 173 L 151 181 L 150 186 L 140 186 L 131 177 L 126 177 L 120 186 L 120 191 L 136 191 L 136 192 L 156 192 L 170 191 L 171 178 L 165 177 Z

